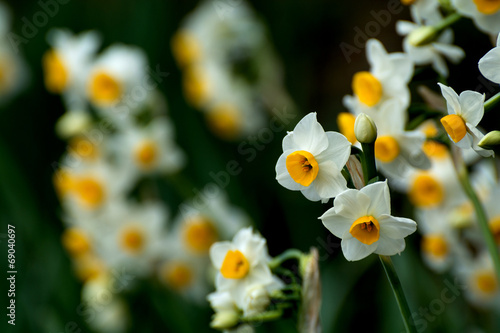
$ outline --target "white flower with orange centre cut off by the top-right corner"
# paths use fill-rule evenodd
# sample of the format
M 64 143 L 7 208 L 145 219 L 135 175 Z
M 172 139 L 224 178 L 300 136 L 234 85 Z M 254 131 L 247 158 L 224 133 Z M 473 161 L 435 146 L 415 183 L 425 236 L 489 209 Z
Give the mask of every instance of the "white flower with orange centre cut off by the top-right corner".
M 452 0 L 453 6 L 465 17 L 470 17 L 485 33 L 500 32 L 500 1 L 498 0 Z

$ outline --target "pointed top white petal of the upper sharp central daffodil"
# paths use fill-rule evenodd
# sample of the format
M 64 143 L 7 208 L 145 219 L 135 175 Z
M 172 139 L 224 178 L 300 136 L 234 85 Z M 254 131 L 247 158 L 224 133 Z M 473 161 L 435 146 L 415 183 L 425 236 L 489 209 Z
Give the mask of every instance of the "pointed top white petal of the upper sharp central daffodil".
M 325 130 L 316 120 L 316 112 L 311 112 L 295 126 L 293 130 L 295 145 L 313 155 L 321 153 L 328 147 Z

